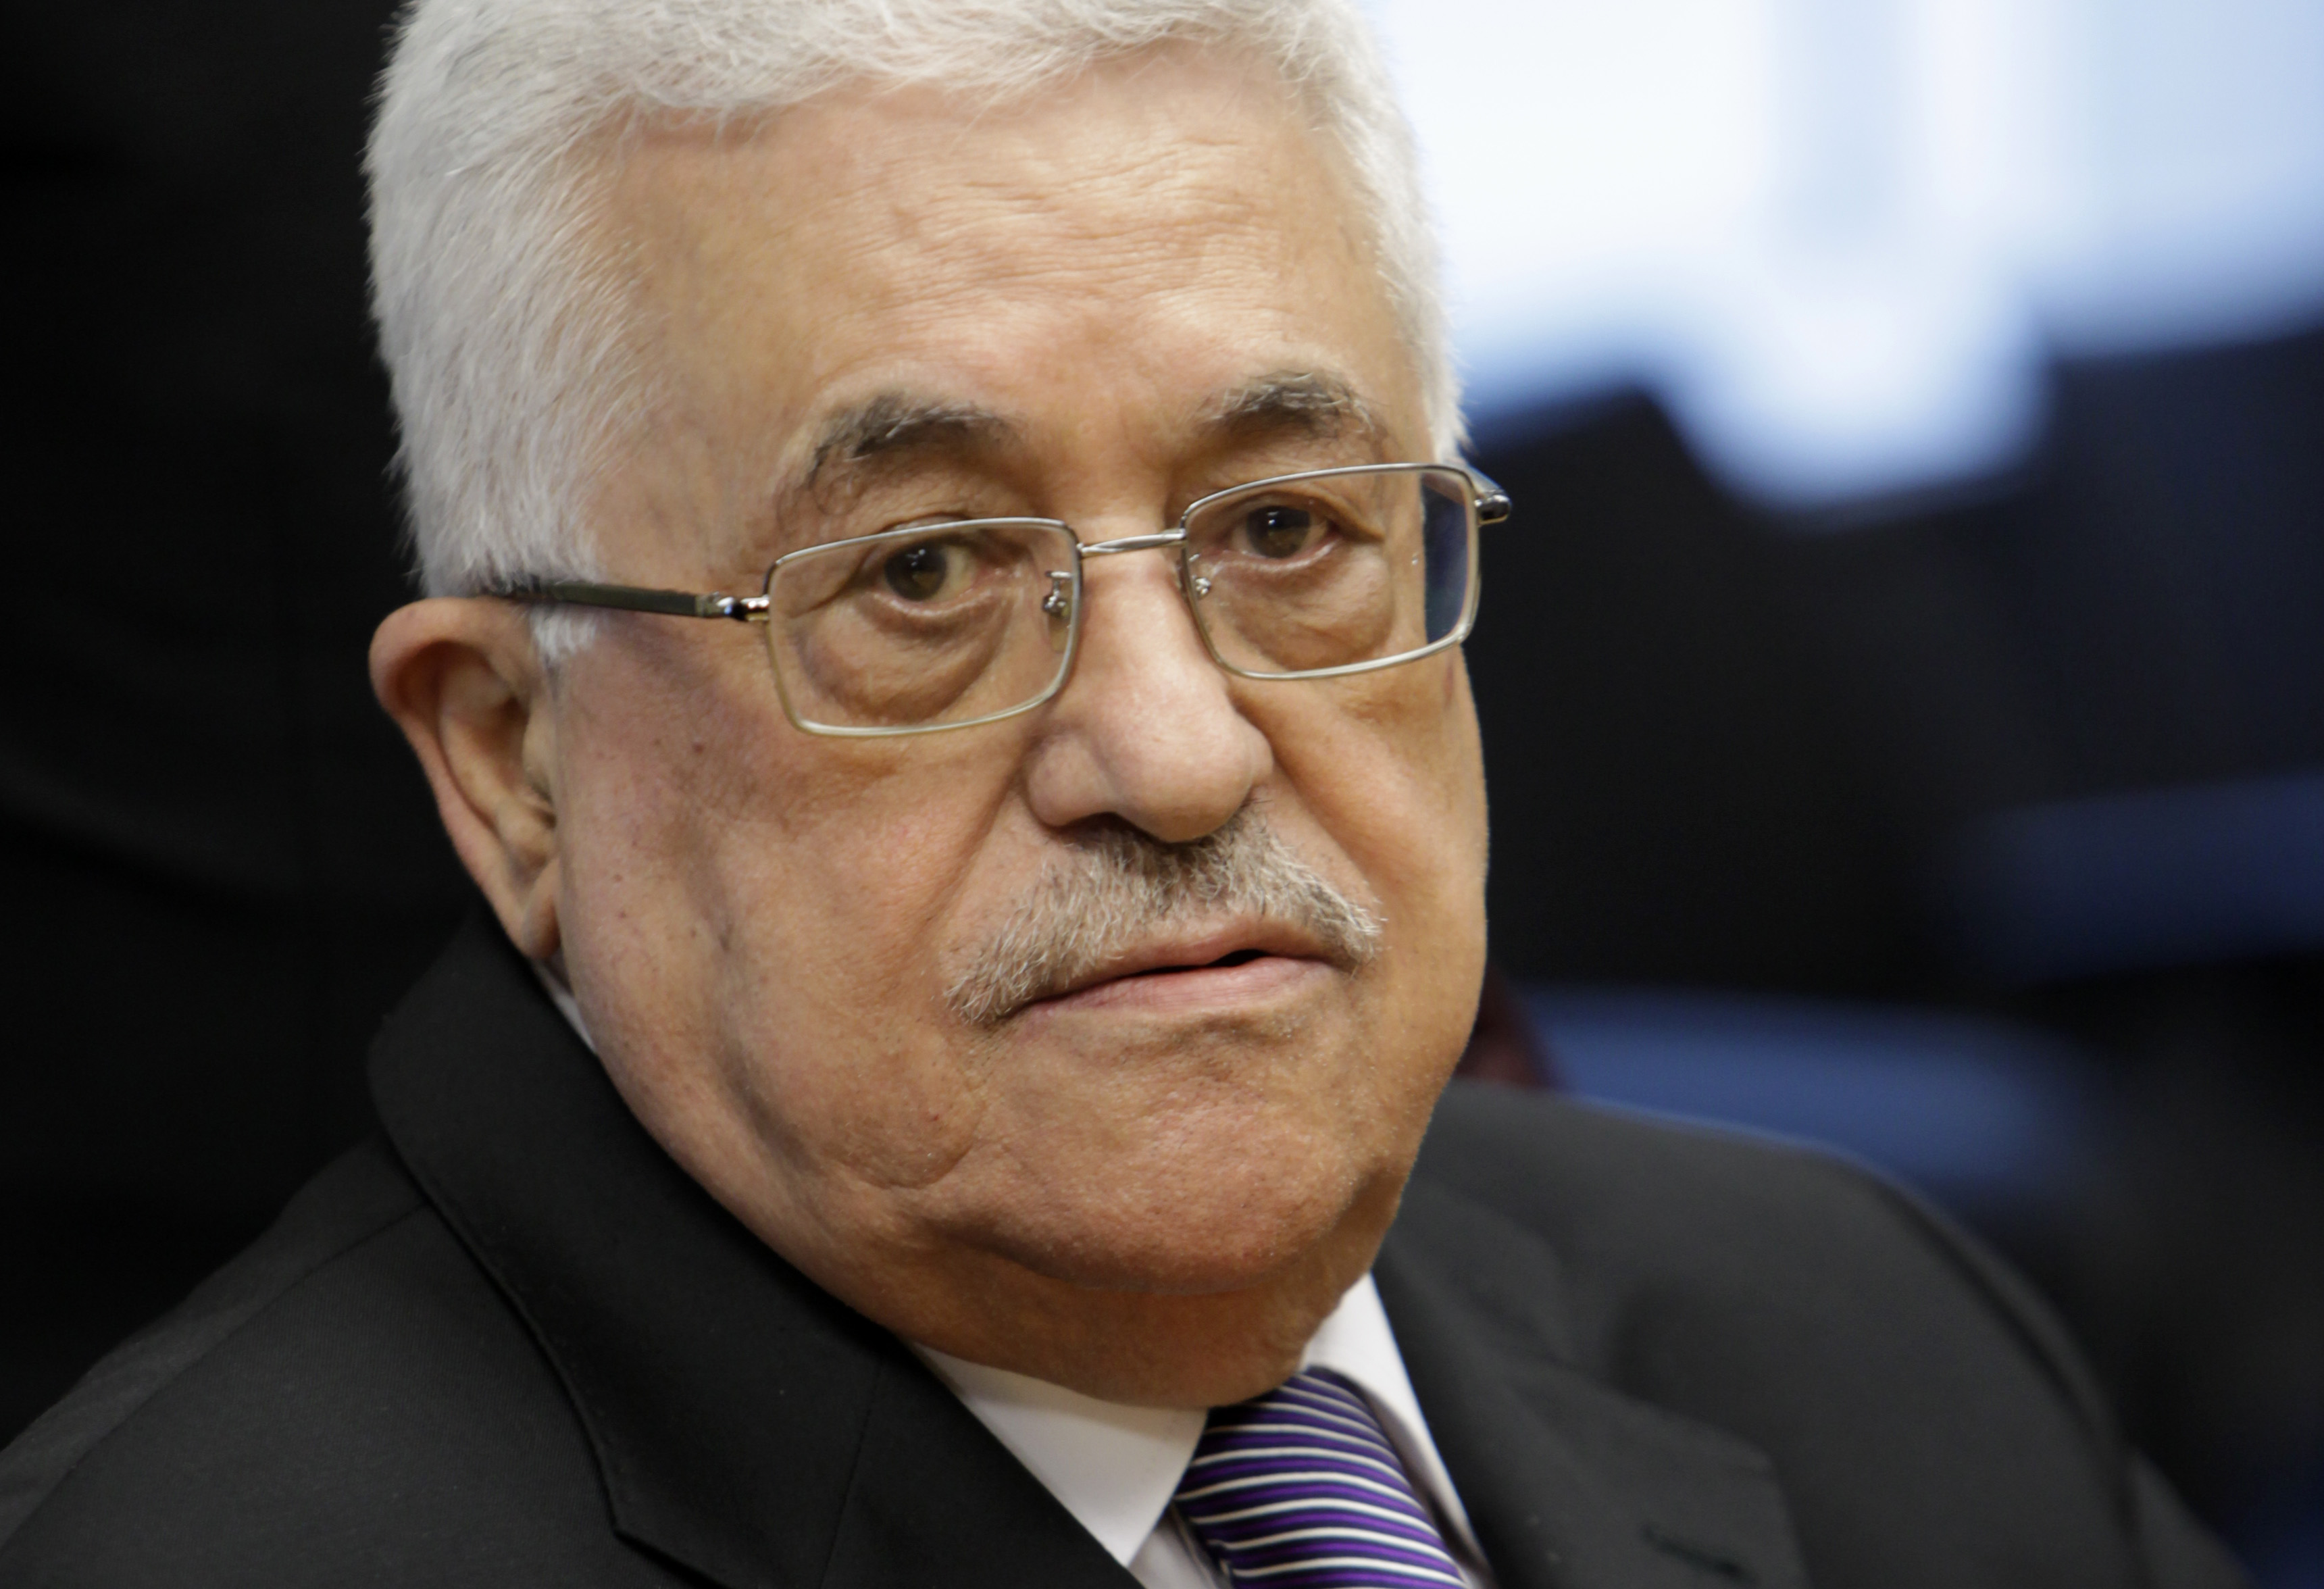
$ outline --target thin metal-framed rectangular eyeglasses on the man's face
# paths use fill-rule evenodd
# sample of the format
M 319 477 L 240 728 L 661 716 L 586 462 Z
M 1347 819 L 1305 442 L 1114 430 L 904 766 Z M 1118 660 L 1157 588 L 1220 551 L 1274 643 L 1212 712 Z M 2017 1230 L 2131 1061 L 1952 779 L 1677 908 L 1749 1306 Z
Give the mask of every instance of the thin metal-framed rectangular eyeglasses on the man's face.
M 1160 534 L 1083 541 L 1055 518 L 969 518 L 786 553 L 762 595 L 528 581 L 516 602 L 755 623 L 783 713 L 809 734 L 934 734 L 1064 688 L 1083 567 L 1176 553 L 1211 657 L 1239 678 L 1336 678 L 1457 646 L 1476 623 L 1476 530 L 1508 495 L 1448 465 L 1308 469 L 1197 499 Z

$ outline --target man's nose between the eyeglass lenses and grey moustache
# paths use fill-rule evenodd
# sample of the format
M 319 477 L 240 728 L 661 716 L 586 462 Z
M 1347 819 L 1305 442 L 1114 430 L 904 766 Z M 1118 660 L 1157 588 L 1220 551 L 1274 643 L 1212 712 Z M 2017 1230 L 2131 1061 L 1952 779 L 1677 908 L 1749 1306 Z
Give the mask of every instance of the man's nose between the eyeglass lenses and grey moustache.
M 1048 827 L 1113 815 L 1167 843 L 1202 839 L 1271 771 L 1267 734 L 1204 648 L 1171 553 L 1092 558 L 1083 606 L 1074 676 L 1027 767 L 1034 815 Z

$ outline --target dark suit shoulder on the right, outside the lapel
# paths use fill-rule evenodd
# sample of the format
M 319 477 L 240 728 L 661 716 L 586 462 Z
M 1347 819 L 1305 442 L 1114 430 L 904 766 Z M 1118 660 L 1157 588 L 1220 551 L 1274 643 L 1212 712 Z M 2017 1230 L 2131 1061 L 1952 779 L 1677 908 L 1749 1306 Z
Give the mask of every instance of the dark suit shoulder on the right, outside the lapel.
M 2157 1512 L 2031 1287 L 1845 1159 L 1464 1087 L 1408 1213 L 1478 1292 L 1541 1254 L 1527 1301 L 1555 1296 L 1573 1366 L 1766 1452 L 1817 1577 L 1878 1582 L 1864 1540 L 1927 1526 L 2126 1559 Z

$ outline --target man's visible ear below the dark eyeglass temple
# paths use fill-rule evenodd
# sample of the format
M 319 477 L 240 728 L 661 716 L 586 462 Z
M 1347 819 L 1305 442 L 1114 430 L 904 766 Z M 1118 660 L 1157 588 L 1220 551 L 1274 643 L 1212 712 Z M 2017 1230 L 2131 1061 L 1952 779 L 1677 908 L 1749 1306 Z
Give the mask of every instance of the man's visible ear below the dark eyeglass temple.
M 532 959 L 555 955 L 555 713 L 523 611 L 432 597 L 388 613 L 372 637 L 372 690 L 502 929 Z

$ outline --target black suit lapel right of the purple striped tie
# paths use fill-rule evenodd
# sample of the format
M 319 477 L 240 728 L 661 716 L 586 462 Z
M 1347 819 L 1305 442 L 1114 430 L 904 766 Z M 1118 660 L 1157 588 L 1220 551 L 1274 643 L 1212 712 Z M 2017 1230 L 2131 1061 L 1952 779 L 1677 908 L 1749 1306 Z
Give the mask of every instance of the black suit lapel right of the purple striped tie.
M 1806 1584 L 1766 1457 L 1571 1364 L 1543 1241 L 1415 1180 L 1373 1275 L 1501 1589 Z

